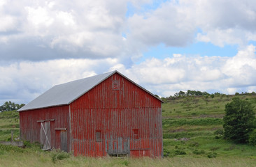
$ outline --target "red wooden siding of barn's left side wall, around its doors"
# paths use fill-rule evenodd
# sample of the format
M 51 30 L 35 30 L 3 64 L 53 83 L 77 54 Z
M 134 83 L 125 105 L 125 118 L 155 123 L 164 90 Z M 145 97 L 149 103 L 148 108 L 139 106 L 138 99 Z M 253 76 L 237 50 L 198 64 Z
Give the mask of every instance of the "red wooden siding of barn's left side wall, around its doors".
M 60 147 L 60 130 L 67 129 L 69 134 L 69 106 L 56 106 L 46 109 L 36 109 L 20 112 L 20 136 L 23 140 L 35 142 L 40 141 L 41 122 L 50 121 L 50 143 L 52 148 Z M 69 135 L 67 135 L 69 151 Z

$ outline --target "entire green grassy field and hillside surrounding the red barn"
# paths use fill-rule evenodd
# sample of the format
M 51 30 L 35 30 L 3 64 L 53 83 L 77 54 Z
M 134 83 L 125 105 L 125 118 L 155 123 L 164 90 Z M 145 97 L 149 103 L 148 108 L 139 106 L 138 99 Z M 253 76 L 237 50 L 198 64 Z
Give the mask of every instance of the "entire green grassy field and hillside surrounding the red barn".
M 0 166 L 256 166 L 256 147 L 225 141 L 222 130 L 225 104 L 232 95 L 164 98 L 162 104 L 164 158 L 89 158 L 64 152 L 43 152 L 0 145 Z M 239 95 L 256 104 L 256 95 Z M 0 113 L 0 141 L 19 136 L 18 113 Z

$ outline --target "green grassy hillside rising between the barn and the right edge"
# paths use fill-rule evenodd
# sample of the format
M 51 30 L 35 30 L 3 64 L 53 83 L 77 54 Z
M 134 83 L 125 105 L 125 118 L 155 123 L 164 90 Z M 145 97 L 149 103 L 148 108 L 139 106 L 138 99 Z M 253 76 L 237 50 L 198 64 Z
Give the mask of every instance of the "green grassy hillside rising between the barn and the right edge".
M 238 95 L 252 100 L 256 95 Z M 164 153 L 166 156 L 255 157 L 256 148 L 237 145 L 221 137 L 225 104 L 234 95 L 177 97 L 162 105 Z

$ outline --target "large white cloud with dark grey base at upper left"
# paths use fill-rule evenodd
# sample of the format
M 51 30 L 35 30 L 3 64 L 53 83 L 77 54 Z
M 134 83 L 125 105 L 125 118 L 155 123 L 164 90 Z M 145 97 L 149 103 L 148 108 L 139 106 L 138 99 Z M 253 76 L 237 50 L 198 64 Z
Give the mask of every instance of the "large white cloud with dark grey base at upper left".
M 125 1 L 29 2 L 1 3 L 0 18 L 6 20 L 0 25 L 1 59 L 117 57 L 126 45 Z

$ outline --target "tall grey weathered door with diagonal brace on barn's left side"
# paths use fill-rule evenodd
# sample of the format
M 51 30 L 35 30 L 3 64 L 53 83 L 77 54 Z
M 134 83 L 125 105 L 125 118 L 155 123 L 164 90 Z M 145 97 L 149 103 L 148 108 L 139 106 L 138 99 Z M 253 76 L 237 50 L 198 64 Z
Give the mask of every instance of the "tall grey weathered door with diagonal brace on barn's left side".
M 50 150 L 50 121 L 41 122 L 40 143 L 43 145 L 42 150 Z

